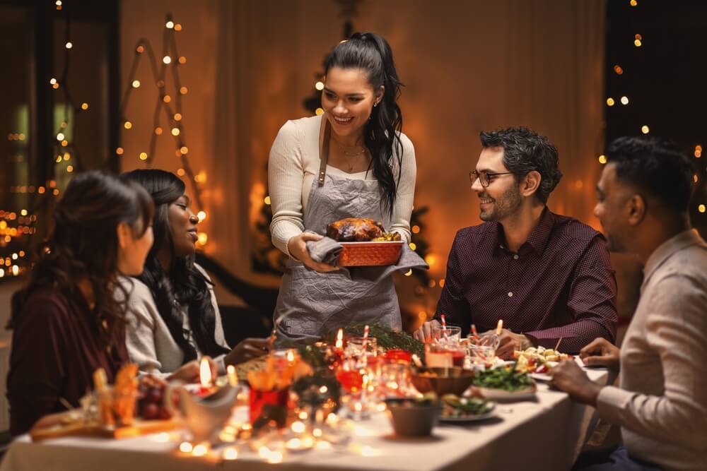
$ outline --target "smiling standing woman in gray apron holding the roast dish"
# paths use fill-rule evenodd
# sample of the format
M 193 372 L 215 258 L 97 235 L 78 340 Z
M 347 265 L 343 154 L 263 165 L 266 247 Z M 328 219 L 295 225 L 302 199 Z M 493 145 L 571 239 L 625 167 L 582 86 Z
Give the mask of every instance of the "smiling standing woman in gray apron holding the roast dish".
M 410 240 L 415 151 L 402 133 L 390 45 L 356 33 L 329 54 L 325 73 L 324 114 L 286 122 L 270 150 L 270 231 L 290 256 L 274 314 L 283 340 L 316 338 L 350 323 L 402 326 L 392 277 L 373 282 L 317 263 L 307 249 L 344 217 L 379 220 Z

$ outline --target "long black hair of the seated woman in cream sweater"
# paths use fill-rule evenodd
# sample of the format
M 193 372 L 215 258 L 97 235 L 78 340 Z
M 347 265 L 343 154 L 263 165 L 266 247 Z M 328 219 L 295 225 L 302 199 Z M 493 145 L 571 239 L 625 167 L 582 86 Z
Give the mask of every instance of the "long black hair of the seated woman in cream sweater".
M 218 345 L 214 338 L 216 311 L 211 304 L 211 282 L 194 266 L 194 256 L 175 256 L 168 211 L 170 204 L 184 194 L 184 182 L 175 174 L 158 169 L 133 170 L 122 174 L 121 178 L 140 184 L 155 203 L 152 221 L 155 242 L 147 255 L 144 272 L 136 278 L 152 293 L 160 316 L 184 352 L 185 363 L 196 359 L 197 351 L 189 343 L 189 331 L 182 327 L 182 311 L 180 306 L 175 306 L 175 300 L 179 305 L 187 304 L 189 328 L 199 351 L 212 357 L 227 353 L 228 350 Z M 172 261 L 168 270 L 158 260 L 158 254 L 165 247 L 169 249 Z

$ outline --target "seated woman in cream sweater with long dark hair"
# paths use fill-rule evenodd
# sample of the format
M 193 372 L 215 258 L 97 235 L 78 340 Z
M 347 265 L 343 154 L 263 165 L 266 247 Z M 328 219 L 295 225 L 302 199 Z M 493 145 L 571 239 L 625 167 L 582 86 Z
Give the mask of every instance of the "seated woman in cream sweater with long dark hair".
M 184 182 L 158 169 L 133 170 L 122 179 L 142 186 L 155 204 L 155 243 L 145 270 L 122 278 L 129 292 L 127 347 L 141 371 L 158 376 L 185 370 L 202 355 L 214 358 L 218 373 L 226 366 L 266 353 L 266 339 L 246 339 L 231 350 L 226 343 L 209 275 L 194 263 L 199 219 L 192 213 Z M 199 370 L 192 369 L 196 380 Z M 183 376 L 183 375 L 182 375 Z

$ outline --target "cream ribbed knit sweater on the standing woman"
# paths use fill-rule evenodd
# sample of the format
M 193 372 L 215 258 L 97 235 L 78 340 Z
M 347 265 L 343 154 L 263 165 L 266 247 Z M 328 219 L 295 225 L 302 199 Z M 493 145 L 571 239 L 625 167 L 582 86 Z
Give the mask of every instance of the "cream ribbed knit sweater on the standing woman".
M 272 243 L 288 254 L 287 243 L 304 231 L 303 214 L 310 189 L 319 172 L 319 133 L 322 116 L 287 121 L 280 129 L 270 150 L 268 183 L 272 205 L 270 233 Z M 404 134 L 400 134 L 403 157 L 402 172 L 397 189 L 392 223 L 385 229 L 399 232 L 410 240 L 410 215 L 415 195 L 417 173 L 415 148 Z M 375 179 L 371 172 L 349 174 L 327 166 L 327 173 L 347 179 Z M 393 159 L 393 174 L 397 176 L 397 159 Z

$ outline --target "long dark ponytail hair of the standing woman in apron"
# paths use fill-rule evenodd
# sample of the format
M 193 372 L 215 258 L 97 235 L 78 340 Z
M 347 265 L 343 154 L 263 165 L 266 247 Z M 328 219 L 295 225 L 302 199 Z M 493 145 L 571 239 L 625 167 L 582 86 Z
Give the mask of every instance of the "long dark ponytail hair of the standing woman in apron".
M 402 172 L 403 148 L 400 141 L 402 112 L 397 104 L 402 83 L 395 70 L 390 44 L 373 32 L 356 32 L 334 47 L 327 57 L 325 74 L 332 67 L 362 68 L 368 72 L 368 83 L 373 90 L 379 90 L 380 85 L 385 87 L 382 100 L 373 107 L 363 129 L 363 142 L 371 155 L 373 175 L 380 184 L 383 208 L 392 215 Z M 392 171 L 394 155 L 398 163 L 397 176 Z

